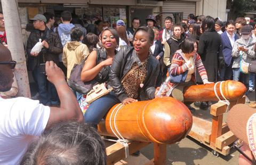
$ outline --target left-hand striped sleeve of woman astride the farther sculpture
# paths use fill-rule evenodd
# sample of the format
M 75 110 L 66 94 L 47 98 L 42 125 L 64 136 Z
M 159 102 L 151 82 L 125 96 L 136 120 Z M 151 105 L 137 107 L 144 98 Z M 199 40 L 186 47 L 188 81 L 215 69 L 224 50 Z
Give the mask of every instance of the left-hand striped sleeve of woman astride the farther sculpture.
M 171 75 L 179 75 L 188 70 L 188 66 L 179 53 L 175 53 L 170 67 Z

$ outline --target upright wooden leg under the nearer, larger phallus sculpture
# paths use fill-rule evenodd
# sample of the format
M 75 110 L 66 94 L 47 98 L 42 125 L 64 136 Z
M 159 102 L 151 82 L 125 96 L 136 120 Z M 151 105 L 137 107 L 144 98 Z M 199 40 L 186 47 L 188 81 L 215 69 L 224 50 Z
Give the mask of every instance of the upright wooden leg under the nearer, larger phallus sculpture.
M 166 145 L 154 143 L 155 165 L 166 165 Z

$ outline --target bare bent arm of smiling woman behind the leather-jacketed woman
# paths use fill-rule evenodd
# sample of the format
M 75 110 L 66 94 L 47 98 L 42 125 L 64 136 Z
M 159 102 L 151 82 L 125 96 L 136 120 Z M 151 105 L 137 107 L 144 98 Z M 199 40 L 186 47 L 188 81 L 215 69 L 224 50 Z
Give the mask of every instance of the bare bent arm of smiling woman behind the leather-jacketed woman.
M 96 60 L 97 51 L 93 50 L 88 56 L 81 72 L 81 80 L 83 82 L 91 81 L 92 79 L 94 79 L 94 77 L 98 75 L 98 73 L 104 66 L 109 66 L 113 62 L 113 58 L 108 58 L 97 65 Z

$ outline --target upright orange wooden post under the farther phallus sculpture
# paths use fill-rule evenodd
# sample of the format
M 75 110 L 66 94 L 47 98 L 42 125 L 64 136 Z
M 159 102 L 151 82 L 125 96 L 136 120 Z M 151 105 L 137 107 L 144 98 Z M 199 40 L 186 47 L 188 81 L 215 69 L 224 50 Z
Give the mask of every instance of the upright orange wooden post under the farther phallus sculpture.
M 223 114 L 219 116 L 212 116 L 211 145 L 214 145 L 216 138 L 221 135 L 222 120 L 223 120 Z

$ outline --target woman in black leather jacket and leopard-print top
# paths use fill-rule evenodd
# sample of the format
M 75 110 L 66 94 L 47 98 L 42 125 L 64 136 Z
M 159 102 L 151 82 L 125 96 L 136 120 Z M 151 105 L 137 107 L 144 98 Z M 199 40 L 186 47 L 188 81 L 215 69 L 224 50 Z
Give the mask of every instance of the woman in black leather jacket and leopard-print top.
M 123 46 L 114 58 L 109 77 L 123 105 L 155 98 L 159 61 L 149 54 L 153 43 L 154 31 L 140 27 L 134 32 L 133 47 Z

